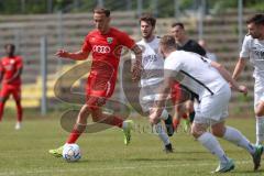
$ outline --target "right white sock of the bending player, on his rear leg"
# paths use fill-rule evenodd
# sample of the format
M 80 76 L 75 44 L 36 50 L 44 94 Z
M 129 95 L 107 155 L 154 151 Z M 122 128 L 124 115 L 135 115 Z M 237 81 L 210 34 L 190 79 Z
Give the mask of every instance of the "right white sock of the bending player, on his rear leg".
M 250 143 L 250 141 L 237 129 L 227 127 L 226 133 L 223 135 L 223 139 L 232 142 L 233 144 L 245 148 L 251 154 L 255 153 L 255 147 Z

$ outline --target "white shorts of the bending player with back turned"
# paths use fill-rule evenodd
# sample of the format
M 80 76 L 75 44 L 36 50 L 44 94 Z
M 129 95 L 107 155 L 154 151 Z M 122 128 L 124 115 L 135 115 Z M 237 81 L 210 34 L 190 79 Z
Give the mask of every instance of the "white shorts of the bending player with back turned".
M 200 103 L 196 106 L 195 123 L 212 125 L 223 121 L 228 117 L 229 100 L 231 90 L 229 85 L 221 88 L 221 91 L 213 96 L 200 98 Z

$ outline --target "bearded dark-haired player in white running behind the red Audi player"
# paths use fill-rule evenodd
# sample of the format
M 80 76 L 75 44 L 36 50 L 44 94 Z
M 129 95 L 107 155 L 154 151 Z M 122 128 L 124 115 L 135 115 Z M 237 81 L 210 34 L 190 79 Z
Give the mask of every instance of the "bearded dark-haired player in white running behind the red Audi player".
M 158 53 L 160 37 L 154 35 L 156 19 L 151 14 L 143 14 L 139 22 L 142 40 L 136 44 L 142 48 L 143 52 L 143 74 L 140 81 L 140 105 L 143 112 L 148 116 L 150 108 L 152 108 L 155 101 L 155 89 L 160 87 L 160 84 L 163 81 L 163 76 L 161 76 L 161 73 L 163 73 L 164 58 Z M 133 61 L 135 61 L 134 55 L 132 55 L 132 62 Z M 164 151 L 166 153 L 170 153 L 173 152 L 173 148 L 168 135 L 172 136 L 174 132 L 172 116 L 169 116 L 167 110 L 164 109 L 160 118 L 161 120 L 164 120 L 167 128 L 167 133 L 165 132 L 161 120 L 155 123 L 153 128 L 164 144 Z

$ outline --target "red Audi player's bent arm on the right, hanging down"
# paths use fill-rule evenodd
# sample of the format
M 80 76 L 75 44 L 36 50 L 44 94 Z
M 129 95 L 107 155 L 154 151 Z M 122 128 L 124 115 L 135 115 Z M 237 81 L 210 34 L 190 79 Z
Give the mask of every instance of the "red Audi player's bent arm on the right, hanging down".
M 132 80 L 139 80 L 142 72 L 142 50 L 134 45 L 131 51 L 135 54 L 135 61 L 131 65 Z

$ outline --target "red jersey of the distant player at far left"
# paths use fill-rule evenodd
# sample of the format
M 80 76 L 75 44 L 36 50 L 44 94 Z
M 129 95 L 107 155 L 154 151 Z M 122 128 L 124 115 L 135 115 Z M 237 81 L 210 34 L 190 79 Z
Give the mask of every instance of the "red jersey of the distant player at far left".
M 12 82 L 7 84 L 6 81 L 11 79 L 14 74 L 23 67 L 23 62 L 21 56 L 13 57 L 2 57 L 0 61 L 0 72 L 3 75 L 2 80 L 6 85 L 20 86 L 21 77 L 16 77 Z

